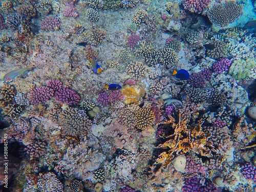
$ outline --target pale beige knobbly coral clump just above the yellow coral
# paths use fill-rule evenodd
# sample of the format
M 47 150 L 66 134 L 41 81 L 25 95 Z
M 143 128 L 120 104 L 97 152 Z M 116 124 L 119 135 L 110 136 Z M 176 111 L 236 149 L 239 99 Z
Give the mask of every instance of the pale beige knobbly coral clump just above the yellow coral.
M 148 68 L 142 62 L 132 61 L 127 67 L 125 72 L 136 79 L 140 79 L 146 75 Z

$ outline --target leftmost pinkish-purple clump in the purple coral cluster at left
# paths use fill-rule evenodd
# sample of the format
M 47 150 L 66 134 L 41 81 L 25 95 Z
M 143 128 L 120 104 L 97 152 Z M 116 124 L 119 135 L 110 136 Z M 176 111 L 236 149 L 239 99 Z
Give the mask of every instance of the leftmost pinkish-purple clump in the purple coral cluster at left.
M 31 104 L 46 103 L 54 96 L 54 90 L 47 86 L 35 88 L 30 92 Z

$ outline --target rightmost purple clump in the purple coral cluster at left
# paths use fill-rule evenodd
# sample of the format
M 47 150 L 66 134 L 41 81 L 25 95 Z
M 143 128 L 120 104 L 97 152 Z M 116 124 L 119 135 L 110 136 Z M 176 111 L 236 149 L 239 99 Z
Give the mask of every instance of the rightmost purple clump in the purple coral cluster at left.
M 55 92 L 55 99 L 61 103 L 77 104 L 80 96 L 72 89 L 59 89 Z

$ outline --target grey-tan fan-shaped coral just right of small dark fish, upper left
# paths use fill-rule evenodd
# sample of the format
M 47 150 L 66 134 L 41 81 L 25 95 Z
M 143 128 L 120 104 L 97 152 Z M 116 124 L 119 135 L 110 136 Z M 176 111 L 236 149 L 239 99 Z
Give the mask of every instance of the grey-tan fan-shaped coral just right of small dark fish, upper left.
M 89 44 L 98 46 L 106 36 L 104 29 L 92 29 L 90 31 L 83 32 Z

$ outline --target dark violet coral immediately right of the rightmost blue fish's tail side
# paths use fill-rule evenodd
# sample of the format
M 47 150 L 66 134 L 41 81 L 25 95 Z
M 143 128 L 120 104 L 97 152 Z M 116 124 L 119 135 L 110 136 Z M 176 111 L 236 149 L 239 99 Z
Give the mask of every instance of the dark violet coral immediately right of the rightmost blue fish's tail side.
M 195 88 L 204 88 L 206 80 L 211 78 L 212 72 L 209 69 L 202 69 L 202 71 L 198 73 L 193 73 L 188 83 Z

